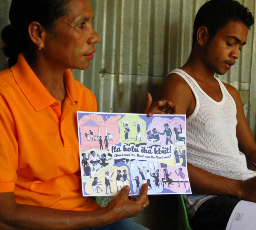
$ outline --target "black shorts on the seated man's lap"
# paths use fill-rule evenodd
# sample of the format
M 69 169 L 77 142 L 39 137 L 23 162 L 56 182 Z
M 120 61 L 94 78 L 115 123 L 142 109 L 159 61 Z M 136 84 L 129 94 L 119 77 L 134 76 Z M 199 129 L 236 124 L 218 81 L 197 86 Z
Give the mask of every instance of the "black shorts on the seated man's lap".
M 225 230 L 229 217 L 241 199 L 216 196 L 206 200 L 189 219 L 193 230 Z

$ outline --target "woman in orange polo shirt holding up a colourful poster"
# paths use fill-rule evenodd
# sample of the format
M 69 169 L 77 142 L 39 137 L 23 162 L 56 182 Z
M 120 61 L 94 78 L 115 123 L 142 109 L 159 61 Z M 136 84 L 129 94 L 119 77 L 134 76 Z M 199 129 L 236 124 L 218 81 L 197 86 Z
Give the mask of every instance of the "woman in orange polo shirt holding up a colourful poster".
M 129 187 L 101 207 L 82 196 L 76 111 L 96 111 L 70 69 L 99 40 L 89 0 L 12 0 L 0 72 L 0 229 L 146 229 L 124 220 L 148 206 Z M 124 220 L 124 221 L 121 221 Z M 124 226 L 123 226 L 124 225 Z

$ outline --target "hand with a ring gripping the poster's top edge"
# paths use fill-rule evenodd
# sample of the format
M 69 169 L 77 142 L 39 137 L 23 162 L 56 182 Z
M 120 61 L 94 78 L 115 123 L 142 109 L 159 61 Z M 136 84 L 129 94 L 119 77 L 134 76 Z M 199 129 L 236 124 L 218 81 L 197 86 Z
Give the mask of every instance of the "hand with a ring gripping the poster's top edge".
M 172 102 L 164 99 L 153 102 L 151 94 L 147 93 L 147 102 L 144 113 L 147 113 L 148 117 L 151 117 L 153 114 L 177 114 L 177 112 L 177 105 L 172 105 Z

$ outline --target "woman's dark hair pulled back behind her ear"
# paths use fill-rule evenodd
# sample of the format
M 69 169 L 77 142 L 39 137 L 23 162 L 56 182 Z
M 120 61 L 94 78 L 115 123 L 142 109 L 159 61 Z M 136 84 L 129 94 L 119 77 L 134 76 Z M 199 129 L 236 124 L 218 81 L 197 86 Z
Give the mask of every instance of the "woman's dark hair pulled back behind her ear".
M 4 55 L 9 58 L 7 67 L 16 64 L 21 52 L 33 55 L 29 24 L 36 21 L 45 30 L 51 31 L 54 21 L 69 12 L 69 2 L 70 0 L 12 0 L 9 12 L 11 24 L 1 32 Z

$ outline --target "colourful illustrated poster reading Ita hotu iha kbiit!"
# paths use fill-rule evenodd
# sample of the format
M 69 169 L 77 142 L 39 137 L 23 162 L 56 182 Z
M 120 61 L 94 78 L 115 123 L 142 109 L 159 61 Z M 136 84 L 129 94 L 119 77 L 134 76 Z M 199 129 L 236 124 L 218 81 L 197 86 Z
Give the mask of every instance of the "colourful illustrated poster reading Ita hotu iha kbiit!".
M 191 194 L 185 115 L 77 112 L 83 196 Z

